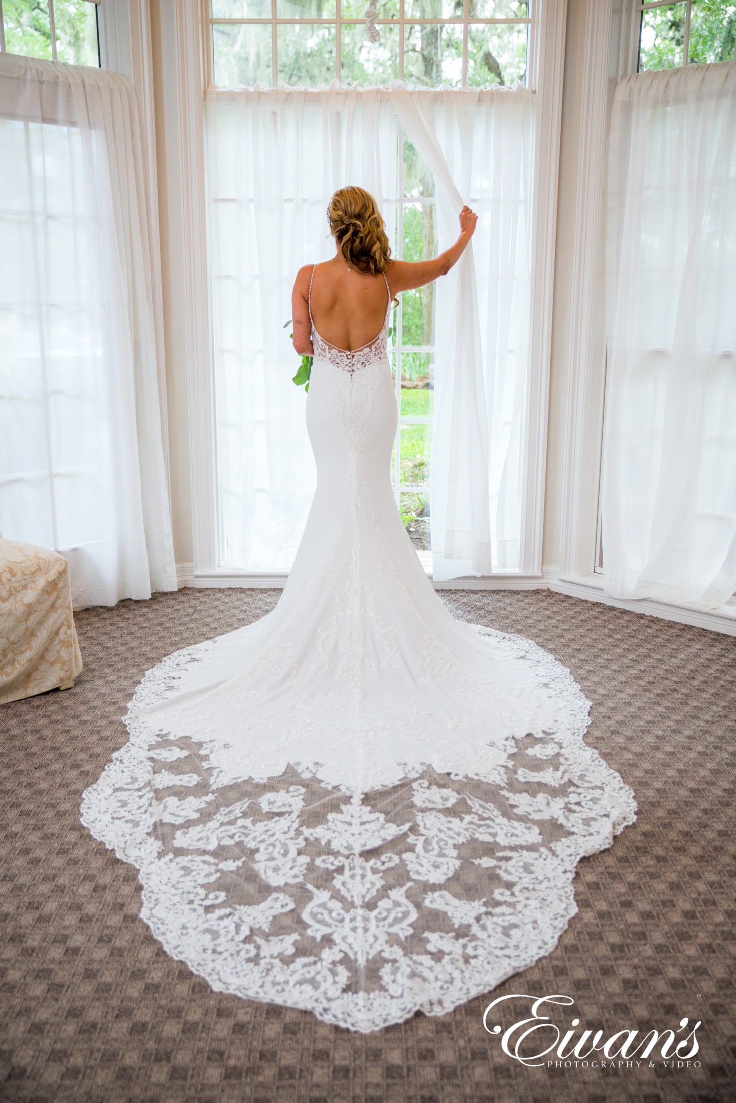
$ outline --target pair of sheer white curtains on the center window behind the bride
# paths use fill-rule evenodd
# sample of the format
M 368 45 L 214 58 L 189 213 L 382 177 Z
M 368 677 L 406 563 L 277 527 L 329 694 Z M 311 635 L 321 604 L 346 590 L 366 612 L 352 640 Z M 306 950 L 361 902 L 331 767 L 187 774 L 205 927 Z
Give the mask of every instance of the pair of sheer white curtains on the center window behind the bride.
M 480 214 L 437 296 L 435 577 L 518 566 L 533 120 L 524 88 L 207 94 L 223 566 L 291 564 L 313 490 L 284 330 L 294 277 L 333 255 L 326 207 L 344 184 L 375 195 L 395 240 L 401 128 L 435 174 L 440 248 L 462 202 Z

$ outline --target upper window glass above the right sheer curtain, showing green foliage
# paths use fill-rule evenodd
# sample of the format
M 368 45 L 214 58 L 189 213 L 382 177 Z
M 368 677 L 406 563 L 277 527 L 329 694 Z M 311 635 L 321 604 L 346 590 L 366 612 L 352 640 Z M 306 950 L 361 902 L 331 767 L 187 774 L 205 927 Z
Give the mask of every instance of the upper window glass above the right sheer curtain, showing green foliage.
M 639 23 L 638 72 L 696 62 L 726 62 L 734 56 L 736 3 L 681 0 L 643 3 Z

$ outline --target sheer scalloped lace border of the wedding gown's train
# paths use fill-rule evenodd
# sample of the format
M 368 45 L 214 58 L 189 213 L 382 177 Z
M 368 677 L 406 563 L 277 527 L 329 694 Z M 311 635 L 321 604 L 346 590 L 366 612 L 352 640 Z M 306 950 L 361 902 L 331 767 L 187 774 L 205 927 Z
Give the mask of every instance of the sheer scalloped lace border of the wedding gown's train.
M 583 742 L 588 703 L 569 673 L 530 641 L 480 633 L 567 708 L 554 737 L 513 741 L 492 790 L 415 763 L 388 790 L 348 794 L 288 769 L 233 800 L 206 772 L 192 785 L 189 740 L 135 719 L 212 642 L 149 672 L 82 820 L 139 869 L 141 918 L 172 957 L 217 992 L 367 1032 L 445 1014 L 553 949 L 577 910 L 577 861 L 633 822 L 633 795 Z

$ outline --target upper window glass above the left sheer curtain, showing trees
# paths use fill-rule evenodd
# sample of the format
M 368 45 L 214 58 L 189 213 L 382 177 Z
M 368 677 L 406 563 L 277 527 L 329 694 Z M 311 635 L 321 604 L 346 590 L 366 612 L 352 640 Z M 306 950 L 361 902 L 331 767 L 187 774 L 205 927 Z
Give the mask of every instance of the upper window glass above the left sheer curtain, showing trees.
M 0 0 L 0 50 L 100 66 L 99 0 Z

